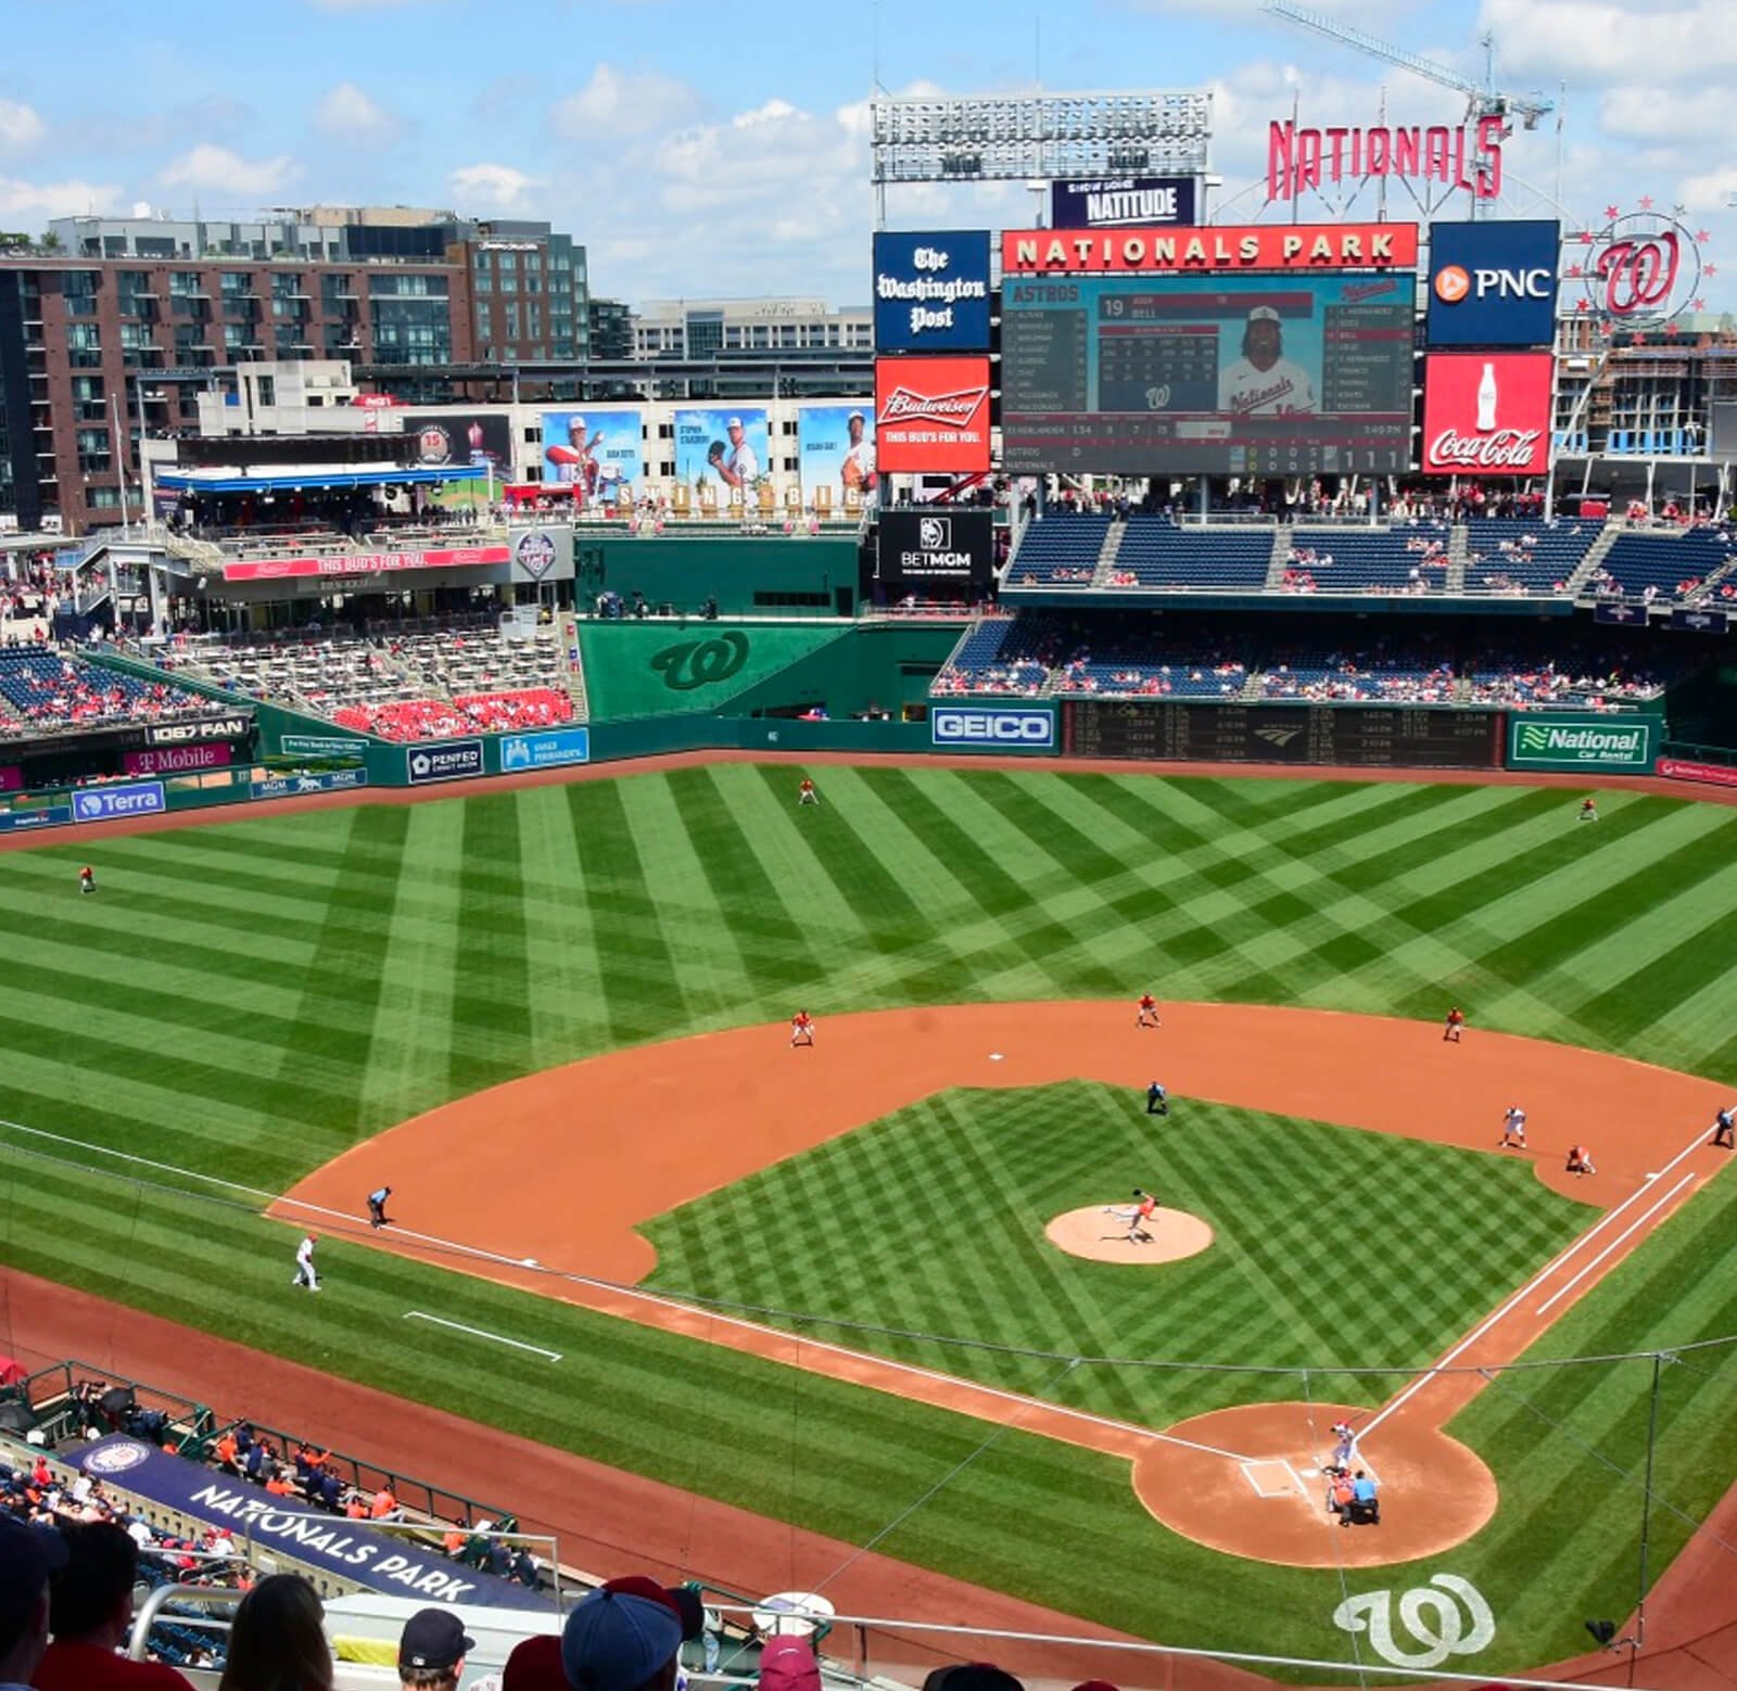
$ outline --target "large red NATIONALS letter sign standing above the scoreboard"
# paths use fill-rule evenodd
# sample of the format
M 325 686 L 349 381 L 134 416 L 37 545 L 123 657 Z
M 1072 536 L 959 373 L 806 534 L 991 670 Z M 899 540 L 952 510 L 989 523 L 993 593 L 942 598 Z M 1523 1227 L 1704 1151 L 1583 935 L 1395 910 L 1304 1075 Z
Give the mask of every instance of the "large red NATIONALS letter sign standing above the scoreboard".
M 1475 200 L 1497 200 L 1503 120 L 1478 118 L 1463 128 L 1299 128 L 1291 120 L 1266 125 L 1268 200 L 1294 200 L 1377 175 L 1445 182 Z

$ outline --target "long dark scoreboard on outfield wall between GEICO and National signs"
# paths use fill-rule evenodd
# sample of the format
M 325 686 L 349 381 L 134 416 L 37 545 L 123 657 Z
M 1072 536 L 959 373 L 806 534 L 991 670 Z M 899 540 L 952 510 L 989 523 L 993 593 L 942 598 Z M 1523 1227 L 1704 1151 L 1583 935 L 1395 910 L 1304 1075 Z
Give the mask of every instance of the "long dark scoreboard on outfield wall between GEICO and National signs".
M 1499 769 L 1503 712 L 1068 700 L 1061 750 L 1153 762 Z

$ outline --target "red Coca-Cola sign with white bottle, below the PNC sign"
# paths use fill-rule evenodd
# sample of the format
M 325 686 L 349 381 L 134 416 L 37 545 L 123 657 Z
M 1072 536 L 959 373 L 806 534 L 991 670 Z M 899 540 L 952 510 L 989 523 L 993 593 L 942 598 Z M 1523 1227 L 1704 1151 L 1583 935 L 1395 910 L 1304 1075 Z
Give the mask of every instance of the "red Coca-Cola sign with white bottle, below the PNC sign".
M 1542 476 L 1549 469 L 1549 352 L 1431 352 L 1423 375 L 1430 476 Z

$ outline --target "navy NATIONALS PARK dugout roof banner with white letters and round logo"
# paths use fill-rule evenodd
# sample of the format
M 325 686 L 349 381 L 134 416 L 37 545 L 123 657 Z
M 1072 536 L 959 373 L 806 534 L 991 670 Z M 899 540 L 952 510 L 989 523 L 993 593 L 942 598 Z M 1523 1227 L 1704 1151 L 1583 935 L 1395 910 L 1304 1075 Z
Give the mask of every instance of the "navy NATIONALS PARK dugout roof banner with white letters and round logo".
M 125 1434 L 87 1444 L 75 1460 L 104 1486 L 228 1528 L 238 1543 L 252 1538 L 264 1550 L 276 1550 L 367 1590 L 415 1597 L 419 1602 L 549 1608 L 537 1592 L 460 1568 L 426 1543 L 375 1531 L 361 1521 L 311 1514 L 297 1498 L 271 1497 L 245 1479 L 217 1474 L 186 1457 L 165 1455 Z

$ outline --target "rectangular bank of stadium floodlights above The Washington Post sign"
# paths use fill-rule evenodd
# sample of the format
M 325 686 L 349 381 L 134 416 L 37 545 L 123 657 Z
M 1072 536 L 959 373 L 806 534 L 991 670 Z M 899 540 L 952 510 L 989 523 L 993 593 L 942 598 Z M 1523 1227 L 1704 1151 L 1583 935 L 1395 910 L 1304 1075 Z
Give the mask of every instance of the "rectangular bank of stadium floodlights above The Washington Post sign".
M 877 97 L 870 104 L 868 156 L 875 188 L 1049 182 L 1129 170 L 1199 175 L 1207 168 L 1211 141 L 1212 95 L 1204 89 Z

